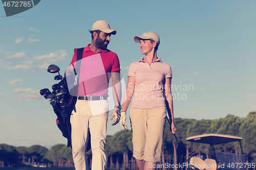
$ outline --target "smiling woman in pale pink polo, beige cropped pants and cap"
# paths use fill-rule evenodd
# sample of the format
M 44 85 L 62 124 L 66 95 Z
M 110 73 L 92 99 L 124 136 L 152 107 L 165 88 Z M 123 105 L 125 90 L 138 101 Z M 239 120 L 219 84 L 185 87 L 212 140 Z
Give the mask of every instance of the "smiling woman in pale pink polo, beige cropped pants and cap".
M 160 40 L 156 33 L 145 32 L 142 36 L 135 36 L 134 41 L 140 42 L 145 57 L 130 65 L 120 125 L 126 128 L 126 110 L 134 95 L 130 109 L 133 156 L 140 170 L 155 169 L 161 156 L 166 108 L 172 118 L 170 129 L 172 133 L 176 131 L 170 91 L 172 71 L 157 57 Z

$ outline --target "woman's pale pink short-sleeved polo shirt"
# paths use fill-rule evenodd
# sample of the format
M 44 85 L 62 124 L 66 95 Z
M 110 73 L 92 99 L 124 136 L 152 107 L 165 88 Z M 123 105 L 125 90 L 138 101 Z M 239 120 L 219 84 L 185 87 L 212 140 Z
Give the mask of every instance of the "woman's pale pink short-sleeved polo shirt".
M 133 62 L 130 65 L 128 77 L 135 77 L 134 98 L 131 108 L 157 109 L 165 107 L 164 82 L 172 78 L 170 66 L 158 59 L 151 65 L 144 61 Z

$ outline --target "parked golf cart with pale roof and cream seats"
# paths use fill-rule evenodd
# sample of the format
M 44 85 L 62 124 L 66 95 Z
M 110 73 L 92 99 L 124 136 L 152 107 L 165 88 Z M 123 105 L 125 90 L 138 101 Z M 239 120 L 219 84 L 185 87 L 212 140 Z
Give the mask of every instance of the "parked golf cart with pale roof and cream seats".
M 231 135 L 222 135 L 222 134 L 203 134 L 197 136 L 191 136 L 186 138 L 187 141 L 190 141 L 190 153 L 193 153 L 193 143 L 205 143 L 210 144 L 208 159 L 202 160 L 198 157 L 193 157 L 193 154 L 190 154 L 189 165 L 191 169 L 199 170 L 216 170 L 216 169 L 245 169 L 247 166 L 245 155 L 243 153 L 241 140 L 242 137 L 231 136 Z M 214 145 L 239 141 L 242 154 L 233 154 L 226 152 L 219 152 L 215 150 Z M 191 156 L 192 155 L 192 156 Z

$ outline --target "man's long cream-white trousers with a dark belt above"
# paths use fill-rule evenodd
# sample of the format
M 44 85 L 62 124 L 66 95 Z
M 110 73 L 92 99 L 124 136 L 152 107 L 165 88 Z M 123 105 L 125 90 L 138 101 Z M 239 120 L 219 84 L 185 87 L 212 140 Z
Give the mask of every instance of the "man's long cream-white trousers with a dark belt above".
M 106 164 L 105 138 L 108 114 L 109 103 L 106 100 L 90 102 L 77 100 L 76 112 L 73 110 L 70 117 L 72 154 L 76 170 L 89 169 L 86 154 L 89 128 L 93 155 L 92 170 L 104 169 Z

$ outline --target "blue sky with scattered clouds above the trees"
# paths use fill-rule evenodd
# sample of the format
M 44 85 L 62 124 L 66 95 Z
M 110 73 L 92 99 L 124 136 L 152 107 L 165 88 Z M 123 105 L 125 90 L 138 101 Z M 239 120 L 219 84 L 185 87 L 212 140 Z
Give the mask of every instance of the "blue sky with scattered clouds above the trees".
M 56 83 L 48 65 L 63 75 L 74 48 L 91 42 L 88 30 L 97 20 L 117 31 L 108 48 L 117 53 L 125 82 L 130 64 L 143 57 L 133 37 L 160 36 L 157 55 L 172 67 L 175 117 L 245 117 L 256 111 L 255 6 L 252 0 L 42 0 L 11 17 L 0 7 L 0 143 L 67 143 L 39 90 Z M 112 135 L 121 127 L 111 122 Z

